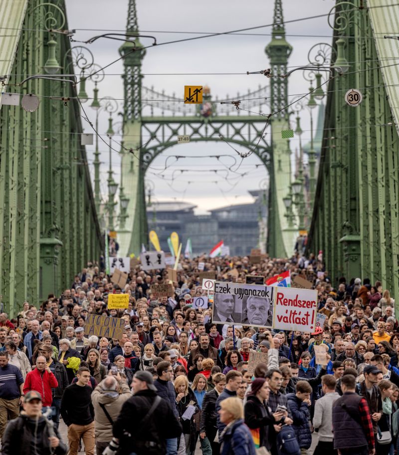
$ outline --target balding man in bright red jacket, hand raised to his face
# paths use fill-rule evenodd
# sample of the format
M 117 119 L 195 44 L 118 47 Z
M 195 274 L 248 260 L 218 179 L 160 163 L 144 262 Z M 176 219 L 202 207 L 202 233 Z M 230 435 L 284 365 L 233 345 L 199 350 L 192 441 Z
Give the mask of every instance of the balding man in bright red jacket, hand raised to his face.
M 43 407 L 51 406 L 53 400 L 51 389 L 56 387 L 58 387 L 57 379 L 47 366 L 45 357 L 39 355 L 36 360 L 36 368 L 26 375 L 23 393 L 35 390 L 41 395 Z

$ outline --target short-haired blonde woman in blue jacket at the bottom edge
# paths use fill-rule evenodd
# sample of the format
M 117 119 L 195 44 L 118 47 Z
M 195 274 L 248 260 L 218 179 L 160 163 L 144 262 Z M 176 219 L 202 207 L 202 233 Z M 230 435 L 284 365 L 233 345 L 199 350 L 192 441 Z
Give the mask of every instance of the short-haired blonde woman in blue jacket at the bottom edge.
M 237 397 L 221 401 L 219 418 L 226 425 L 219 435 L 223 443 L 220 455 L 255 455 L 251 432 L 244 425 L 242 401 Z

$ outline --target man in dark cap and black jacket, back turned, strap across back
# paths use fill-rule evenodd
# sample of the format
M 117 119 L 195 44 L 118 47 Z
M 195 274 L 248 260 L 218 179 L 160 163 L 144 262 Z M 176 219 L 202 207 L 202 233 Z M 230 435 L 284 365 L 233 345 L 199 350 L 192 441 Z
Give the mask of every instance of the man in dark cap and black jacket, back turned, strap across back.
M 148 371 L 137 371 L 132 382 L 133 397 L 123 406 L 113 425 L 113 440 L 106 455 L 165 454 L 166 440 L 178 438 L 182 426 L 170 403 L 157 395 L 153 376 Z

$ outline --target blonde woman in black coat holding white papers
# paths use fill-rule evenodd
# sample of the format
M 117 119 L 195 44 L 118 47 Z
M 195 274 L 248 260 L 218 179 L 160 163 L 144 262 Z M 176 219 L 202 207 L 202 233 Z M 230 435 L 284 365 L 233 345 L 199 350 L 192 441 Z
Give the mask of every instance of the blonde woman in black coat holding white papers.
M 179 413 L 180 423 L 183 427 L 183 437 L 180 440 L 180 444 L 185 444 L 186 454 L 190 455 L 194 453 L 196 449 L 196 423 L 194 415 L 191 419 L 183 419 L 182 416 L 186 412 L 189 404 L 193 401 L 196 406 L 196 413 L 200 410 L 197 402 L 197 398 L 194 392 L 189 387 L 189 380 L 186 376 L 178 376 L 175 379 L 175 391 L 176 391 L 176 408 Z

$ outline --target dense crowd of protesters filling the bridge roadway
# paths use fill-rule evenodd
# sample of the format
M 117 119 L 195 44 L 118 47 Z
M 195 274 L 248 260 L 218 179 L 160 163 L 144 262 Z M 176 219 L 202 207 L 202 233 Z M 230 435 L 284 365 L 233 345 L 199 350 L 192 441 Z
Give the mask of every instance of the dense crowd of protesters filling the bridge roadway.
M 218 281 L 287 270 L 307 279 L 324 325 L 299 332 L 212 323 L 211 306 L 186 303 L 207 294 L 199 262 Z M 67 447 L 70 455 L 307 455 L 313 433 L 316 455 L 397 452 L 398 320 L 380 282 L 334 284 L 321 254 L 180 264 L 171 297 L 151 291 L 169 283 L 166 270 L 137 265 L 120 289 L 90 264 L 61 296 L 0 314 L 3 455 Z M 128 308 L 108 308 L 115 293 L 129 295 Z M 87 336 L 90 313 L 123 318 L 123 333 Z M 256 352 L 264 355 L 254 364 Z

